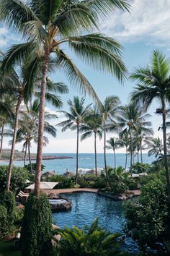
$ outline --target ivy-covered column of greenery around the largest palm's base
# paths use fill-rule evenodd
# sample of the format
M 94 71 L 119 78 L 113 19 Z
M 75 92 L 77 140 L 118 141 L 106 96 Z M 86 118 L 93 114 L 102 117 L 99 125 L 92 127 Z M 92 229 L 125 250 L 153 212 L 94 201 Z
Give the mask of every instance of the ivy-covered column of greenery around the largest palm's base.
M 22 223 L 22 256 L 51 255 L 52 214 L 47 196 L 30 195 Z

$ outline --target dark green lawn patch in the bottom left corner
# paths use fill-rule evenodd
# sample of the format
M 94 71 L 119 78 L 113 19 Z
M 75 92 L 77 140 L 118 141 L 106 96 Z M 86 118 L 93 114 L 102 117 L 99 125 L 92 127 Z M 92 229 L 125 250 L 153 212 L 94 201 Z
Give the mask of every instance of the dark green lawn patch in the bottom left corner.
M 21 256 L 20 251 L 12 250 L 13 241 L 0 241 L 0 256 Z

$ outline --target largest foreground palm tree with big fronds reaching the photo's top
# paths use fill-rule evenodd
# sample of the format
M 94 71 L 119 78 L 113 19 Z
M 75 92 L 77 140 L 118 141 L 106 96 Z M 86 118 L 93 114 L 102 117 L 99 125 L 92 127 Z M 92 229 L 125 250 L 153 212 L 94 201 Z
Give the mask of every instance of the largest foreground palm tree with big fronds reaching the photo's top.
M 98 29 L 99 17 L 105 18 L 115 9 L 128 10 L 130 5 L 126 0 L 101 1 L 16 1 L 1 0 L 1 21 L 14 27 L 22 33 L 25 43 L 12 46 L 6 53 L 3 69 L 10 70 L 13 64 L 20 64 L 24 56 L 32 55 L 30 61 L 30 88 L 35 73 L 40 71 L 37 61 L 42 61 L 42 82 L 40 92 L 39 138 L 37 145 L 37 165 L 35 176 L 35 195 L 40 195 L 40 175 L 42 163 L 42 144 L 44 131 L 44 110 L 46 77 L 50 56 L 53 56 L 55 67 L 66 72 L 72 84 L 79 85 L 81 90 L 97 98 L 90 83 L 73 61 L 61 48 L 64 44 L 75 51 L 77 56 L 92 67 L 107 71 L 118 80 L 125 77 L 125 65 L 121 61 L 121 47 L 112 38 L 101 33 L 89 33 Z M 31 54 L 33 52 L 33 54 Z M 38 71 L 37 71 L 38 69 Z

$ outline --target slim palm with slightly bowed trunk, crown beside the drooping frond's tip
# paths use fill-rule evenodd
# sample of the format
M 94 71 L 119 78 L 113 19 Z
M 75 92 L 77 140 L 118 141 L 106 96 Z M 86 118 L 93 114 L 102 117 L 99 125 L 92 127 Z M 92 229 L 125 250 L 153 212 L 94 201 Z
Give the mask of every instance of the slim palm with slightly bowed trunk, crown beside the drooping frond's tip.
M 109 176 L 107 174 L 107 160 L 106 160 L 106 133 L 107 131 L 117 131 L 118 125 L 116 122 L 117 110 L 120 106 L 120 99 L 116 96 L 109 96 L 105 98 L 104 103 L 100 106 L 102 115 L 102 125 L 104 132 L 104 169 L 106 171 L 107 183 L 109 183 Z

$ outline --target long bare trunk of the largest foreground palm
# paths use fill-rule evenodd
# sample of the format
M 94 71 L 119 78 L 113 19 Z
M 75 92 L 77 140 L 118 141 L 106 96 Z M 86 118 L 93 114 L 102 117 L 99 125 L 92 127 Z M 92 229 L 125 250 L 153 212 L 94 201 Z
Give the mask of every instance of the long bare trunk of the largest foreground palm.
M 43 134 L 44 134 L 44 112 L 45 112 L 45 92 L 46 92 L 46 79 L 49 64 L 49 50 L 45 51 L 45 60 L 42 64 L 42 82 L 40 91 L 40 108 L 39 108 L 39 126 L 38 126 L 38 142 L 37 142 L 37 159 L 35 171 L 35 196 L 40 195 L 40 179 L 41 179 L 41 166 L 42 166 L 42 149 L 43 149 Z

